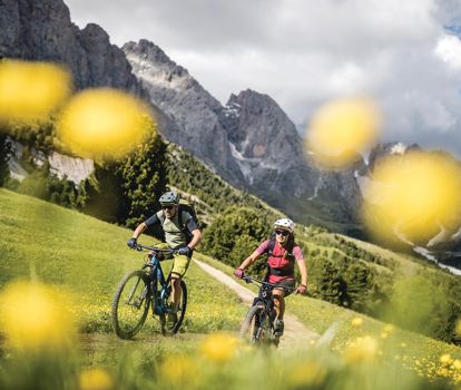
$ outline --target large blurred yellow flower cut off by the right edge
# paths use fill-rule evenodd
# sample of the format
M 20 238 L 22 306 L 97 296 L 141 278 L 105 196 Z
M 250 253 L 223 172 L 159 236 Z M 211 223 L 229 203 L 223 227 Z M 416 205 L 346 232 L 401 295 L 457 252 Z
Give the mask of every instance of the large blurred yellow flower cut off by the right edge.
M 461 223 L 461 165 L 442 153 L 408 152 L 379 162 L 363 187 L 363 218 L 388 242 L 426 245 Z

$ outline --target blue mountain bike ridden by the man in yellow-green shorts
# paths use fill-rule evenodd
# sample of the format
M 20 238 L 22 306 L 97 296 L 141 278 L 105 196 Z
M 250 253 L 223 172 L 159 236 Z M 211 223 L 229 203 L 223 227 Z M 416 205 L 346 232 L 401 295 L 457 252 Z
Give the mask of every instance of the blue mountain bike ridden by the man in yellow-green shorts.
M 150 251 L 147 262 L 140 270 L 127 273 L 117 287 L 112 300 L 114 330 L 120 339 L 131 339 L 143 328 L 149 308 L 153 316 L 158 318 L 161 334 L 175 334 L 183 324 L 187 308 L 187 287 L 182 280 L 182 299 L 177 309 L 177 320 L 167 325 L 166 316 L 171 313 L 169 296 L 171 294 L 169 273 L 165 277 L 160 261 L 166 254 L 175 254 L 176 250 L 164 250 L 137 244 L 137 251 Z

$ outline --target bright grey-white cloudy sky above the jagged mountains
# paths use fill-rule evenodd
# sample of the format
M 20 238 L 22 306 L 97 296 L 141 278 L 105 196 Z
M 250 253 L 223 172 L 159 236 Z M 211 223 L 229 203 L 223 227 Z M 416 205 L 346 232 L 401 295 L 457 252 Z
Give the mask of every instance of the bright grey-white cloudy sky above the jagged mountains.
M 326 100 L 367 94 L 383 140 L 461 155 L 459 0 L 65 1 L 119 46 L 154 41 L 223 104 L 252 88 L 305 127 Z

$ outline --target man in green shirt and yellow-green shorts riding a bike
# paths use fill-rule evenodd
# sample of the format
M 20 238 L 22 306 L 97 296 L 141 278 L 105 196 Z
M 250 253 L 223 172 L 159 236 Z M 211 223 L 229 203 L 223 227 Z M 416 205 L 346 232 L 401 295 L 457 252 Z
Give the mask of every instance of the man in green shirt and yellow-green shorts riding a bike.
M 174 256 L 171 269 L 171 303 L 168 312 L 168 322 L 177 322 L 177 308 L 182 296 L 180 280 L 189 266 L 194 247 L 202 240 L 202 232 L 197 221 L 186 211 L 179 211 L 179 197 L 174 192 L 167 192 L 160 196 L 161 209 L 140 223 L 133 237 L 128 240 L 128 246 L 136 247 L 137 238 L 149 226 L 159 224 L 165 232 L 165 247 L 178 250 Z M 159 245 L 161 247 L 163 245 Z

